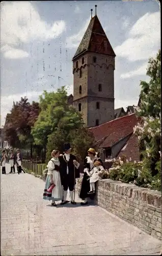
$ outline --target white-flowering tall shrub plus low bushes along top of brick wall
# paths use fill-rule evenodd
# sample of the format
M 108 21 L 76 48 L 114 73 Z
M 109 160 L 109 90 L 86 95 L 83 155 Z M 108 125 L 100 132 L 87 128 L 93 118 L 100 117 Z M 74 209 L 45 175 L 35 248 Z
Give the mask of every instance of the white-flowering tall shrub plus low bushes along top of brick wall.
M 161 52 L 148 62 L 147 75 L 150 81 L 141 81 L 140 104 L 135 109 L 139 119 L 134 126 L 137 135 L 141 162 L 125 158 L 114 161 L 109 169 L 110 178 L 139 186 L 161 190 Z

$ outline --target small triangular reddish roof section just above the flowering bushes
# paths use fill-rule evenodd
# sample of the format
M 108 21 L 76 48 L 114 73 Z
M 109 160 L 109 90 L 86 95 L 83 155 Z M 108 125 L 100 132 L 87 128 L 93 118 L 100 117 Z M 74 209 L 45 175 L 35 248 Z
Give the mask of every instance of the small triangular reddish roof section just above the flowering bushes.
M 126 156 L 127 159 L 131 157 L 132 161 L 140 160 L 139 143 L 137 137 L 132 134 L 126 142 L 123 150 L 120 151 L 118 157 Z

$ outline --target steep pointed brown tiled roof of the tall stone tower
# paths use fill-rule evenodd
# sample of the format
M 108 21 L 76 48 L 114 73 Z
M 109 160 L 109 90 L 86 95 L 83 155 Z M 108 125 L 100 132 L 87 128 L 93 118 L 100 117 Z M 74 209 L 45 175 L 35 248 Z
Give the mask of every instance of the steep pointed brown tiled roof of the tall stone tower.
M 116 56 L 97 15 L 91 18 L 90 24 L 73 59 L 86 51 Z

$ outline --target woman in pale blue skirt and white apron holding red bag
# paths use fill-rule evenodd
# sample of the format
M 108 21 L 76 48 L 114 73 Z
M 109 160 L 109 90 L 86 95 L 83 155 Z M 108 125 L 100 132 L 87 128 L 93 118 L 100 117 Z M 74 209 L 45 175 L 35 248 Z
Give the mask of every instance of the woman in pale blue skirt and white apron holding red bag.
M 63 188 L 60 177 L 59 151 L 53 150 L 51 159 L 47 164 L 48 173 L 43 194 L 44 200 L 52 200 L 51 206 L 57 206 L 55 201 L 61 201 L 63 198 Z M 50 189 L 52 188 L 52 189 Z

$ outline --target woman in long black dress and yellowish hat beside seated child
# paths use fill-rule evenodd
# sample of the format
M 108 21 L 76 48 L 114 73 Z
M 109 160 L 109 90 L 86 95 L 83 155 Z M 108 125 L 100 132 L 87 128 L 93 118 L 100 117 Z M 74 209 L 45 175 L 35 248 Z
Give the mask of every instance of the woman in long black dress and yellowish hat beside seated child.
M 90 191 L 90 172 L 94 167 L 94 161 L 96 159 L 98 159 L 96 151 L 94 150 L 94 148 L 89 148 L 88 156 L 85 158 L 84 161 L 84 177 L 79 194 L 79 198 L 84 200 L 84 202 L 81 202 L 81 205 L 88 204 L 88 197 L 90 197 L 90 199 L 94 199 L 94 195 L 89 195 L 88 193 Z

